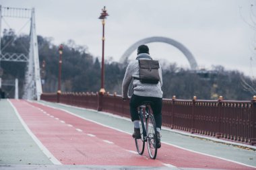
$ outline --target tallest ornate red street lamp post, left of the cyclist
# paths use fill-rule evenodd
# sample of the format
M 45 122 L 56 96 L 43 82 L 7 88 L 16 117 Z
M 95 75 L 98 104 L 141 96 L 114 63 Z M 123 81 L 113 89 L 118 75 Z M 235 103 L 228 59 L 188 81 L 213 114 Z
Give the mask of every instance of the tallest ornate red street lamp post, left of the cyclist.
M 102 97 L 104 93 L 106 92 L 104 89 L 104 29 L 105 29 L 105 19 L 106 16 L 108 16 L 108 13 L 106 12 L 106 7 L 102 9 L 102 13 L 100 13 L 100 17 L 98 19 L 102 19 L 102 60 L 101 60 L 101 85 L 100 85 L 100 91 L 99 91 L 99 99 L 98 99 L 98 111 L 102 110 Z

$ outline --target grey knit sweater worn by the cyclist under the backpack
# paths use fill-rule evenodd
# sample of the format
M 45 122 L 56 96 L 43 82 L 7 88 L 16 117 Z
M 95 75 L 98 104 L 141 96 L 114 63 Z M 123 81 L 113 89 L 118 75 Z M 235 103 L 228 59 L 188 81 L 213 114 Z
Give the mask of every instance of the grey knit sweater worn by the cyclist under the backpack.
M 133 60 L 127 66 L 125 71 L 125 77 L 123 78 L 122 85 L 122 97 L 128 98 L 129 84 L 133 77 L 139 78 L 139 61 L 138 60 L 150 60 L 152 59 L 149 54 L 141 53 L 137 55 L 136 60 Z M 133 93 L 139 96 L 146 97 L 159 97 L 162 98 L 162 69 L 161 66 L 158 69 L 160 75 L 160 81 L 158 84 L 141 83 L 139 80 L 133 80 Z

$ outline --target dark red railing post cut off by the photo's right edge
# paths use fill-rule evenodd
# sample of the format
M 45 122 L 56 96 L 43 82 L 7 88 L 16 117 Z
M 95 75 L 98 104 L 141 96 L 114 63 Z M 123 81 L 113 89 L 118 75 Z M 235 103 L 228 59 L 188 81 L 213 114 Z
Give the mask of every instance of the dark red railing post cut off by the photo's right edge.
M 256 144 L 256 95 L 253 96 L 251 100 L 251 145 Z

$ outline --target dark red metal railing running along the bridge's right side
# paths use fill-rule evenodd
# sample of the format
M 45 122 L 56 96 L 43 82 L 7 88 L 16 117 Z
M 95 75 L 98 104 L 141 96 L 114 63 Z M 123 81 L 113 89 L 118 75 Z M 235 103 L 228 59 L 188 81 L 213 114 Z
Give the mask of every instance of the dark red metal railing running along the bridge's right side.
M 129 101 L 120 95 L 98 93 L 62 93 L 60 102 L 130 117 Z M 44 93 L 42 100 L 56 102 L 57 93 Z M 256 96 L 251 101 L 163 99 L 162 125 L 235 142 L 256 144 Z

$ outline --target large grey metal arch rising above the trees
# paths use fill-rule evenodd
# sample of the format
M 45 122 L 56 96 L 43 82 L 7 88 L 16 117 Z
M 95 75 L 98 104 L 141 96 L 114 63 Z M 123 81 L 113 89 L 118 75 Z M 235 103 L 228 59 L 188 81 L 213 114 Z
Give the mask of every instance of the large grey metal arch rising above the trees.
M 127 62 L 128 57 L 131 55 L 133 51 L 137 49 L 137 47 L 141 44 L 148 44 L 150 42 L 164 42 L 166 44 L 170 44 L 179 50 L 183 52 L 183 54 L 187 57 L 187 60 L 189 60 L 189 65 L 192 70 L 197 69 L 197 62 L 193 56 L 193 54 L 180 42 L 177 42 L 176 40 L 173 40 L 171 38 L 161 37 L 161 36 L 153 36 L 149 38 L 144 38 L 142 40 L 139 40 L 138 42 L 135 42 L 132 46 L 130 46 L 123 56 L 120 58 L 119 62 L 124 63 Z

